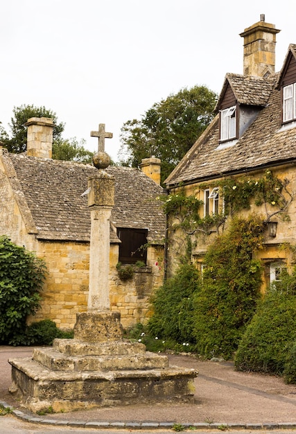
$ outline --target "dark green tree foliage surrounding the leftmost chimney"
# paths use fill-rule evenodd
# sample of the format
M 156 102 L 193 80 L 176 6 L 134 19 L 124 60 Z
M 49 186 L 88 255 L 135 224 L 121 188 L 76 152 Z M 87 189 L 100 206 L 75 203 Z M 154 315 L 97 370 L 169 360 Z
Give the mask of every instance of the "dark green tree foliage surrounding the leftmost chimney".
M 53 128 L 53 143 L 61 139 L 64 131 L 64 123 L 58 123 L 58 117 L 52 110 L 45 107 L 35 107 L 34 105 L 20 105 L 12 110 L 13 117 L 10 121 L 11 136 L 2 130 L 1 141 L 10 153 L 23 153 L 27 147 L 27 128 L 24 125 L 28 119 L 33 117 L 52 118 L 55 127 Z

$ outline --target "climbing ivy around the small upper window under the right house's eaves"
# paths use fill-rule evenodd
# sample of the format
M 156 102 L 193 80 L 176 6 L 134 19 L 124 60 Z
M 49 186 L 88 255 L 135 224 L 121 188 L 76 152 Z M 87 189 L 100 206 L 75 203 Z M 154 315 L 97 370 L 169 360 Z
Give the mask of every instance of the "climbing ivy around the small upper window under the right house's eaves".
M 219 233 L 220 228 L 223 230 L 228 216 L 234 216 L 238 211 L 250 209 L 252 202 L 256 207 L 263 205 L 264 223 L 268 223 L 270 218 L 276 214 L 288 220 L 288 207 L 294 198 L 289 184 L 290 180 L 281 179 L 269 170 L 259 178 L 243 176 L 218 180 L 215 186 L 219 187 L 219 196 L 224 201 L 223 212 L 205 217 L 200 216 L 204 202 L 196 198 L 197 194 L 186 195 L 184 186 L 180 186 L 176 194 L 170 194 L 161 199 L 164 200 L 165 214 L 171 218 L 170 229 L 173 232 L 181 229 L 186 235 L 209 235 L 212 232 Z M 205 189 L 208 186 L 208 184 L 202 184 L 199 188 Z

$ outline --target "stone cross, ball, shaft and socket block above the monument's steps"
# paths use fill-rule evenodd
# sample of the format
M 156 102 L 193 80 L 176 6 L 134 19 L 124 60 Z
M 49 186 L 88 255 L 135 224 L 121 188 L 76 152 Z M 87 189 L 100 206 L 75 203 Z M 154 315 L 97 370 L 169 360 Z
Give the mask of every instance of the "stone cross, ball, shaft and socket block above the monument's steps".
M 120 313 L 110 311 L 109 268 L 110 268 L 110 216 L 114 205 L 114 177 L 104 169 L 110 164 L 105 153 L 105 124 L 98 125 L 91 137 L 98 137 L 98 153 L 94 155 L 94 166 L 98 173 L 88 180 L 88 205 L 91 214 L 89 246 L 89 297 L 87 312 L 78 313 L 74 327 L 77 339 L 92 341 L 118 340 L 123 336 Z

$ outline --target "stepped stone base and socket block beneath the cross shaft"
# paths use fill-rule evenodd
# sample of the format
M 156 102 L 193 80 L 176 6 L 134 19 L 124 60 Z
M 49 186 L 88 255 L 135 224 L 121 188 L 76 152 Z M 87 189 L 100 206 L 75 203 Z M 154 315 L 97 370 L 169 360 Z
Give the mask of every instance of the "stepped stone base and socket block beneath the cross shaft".
M 95 333 L 94 324 L 101 327 L 100 318 L 103 331 Z M 198 372 L 170 367 L 167 356 L 118 337 L 118 320 L 120 324 L 120 317 L 110 312 L 82 314 L 74 339 L 55 339 L 53 347 L 34 349 L 33 358 L 10 359 L 10 391 L 33 413 L 50 406 L 60 412 L 139 402 L 193 401 L 193 380 Z M 92 333 L 83 327 L 89 323 Z M 101 341 L 93 341 L 96 334 Z

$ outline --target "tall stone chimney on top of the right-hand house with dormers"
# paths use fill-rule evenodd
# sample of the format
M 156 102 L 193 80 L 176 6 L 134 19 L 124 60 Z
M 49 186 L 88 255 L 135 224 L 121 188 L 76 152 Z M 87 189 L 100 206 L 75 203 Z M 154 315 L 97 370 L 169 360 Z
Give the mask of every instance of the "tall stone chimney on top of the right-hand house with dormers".
M 265 15 L 261 14 L 258 23 L 240 33 L 244 76 L 265 77 L 275 72 L 275 44 L 279 32 L 274 24 L 265 23 Z

